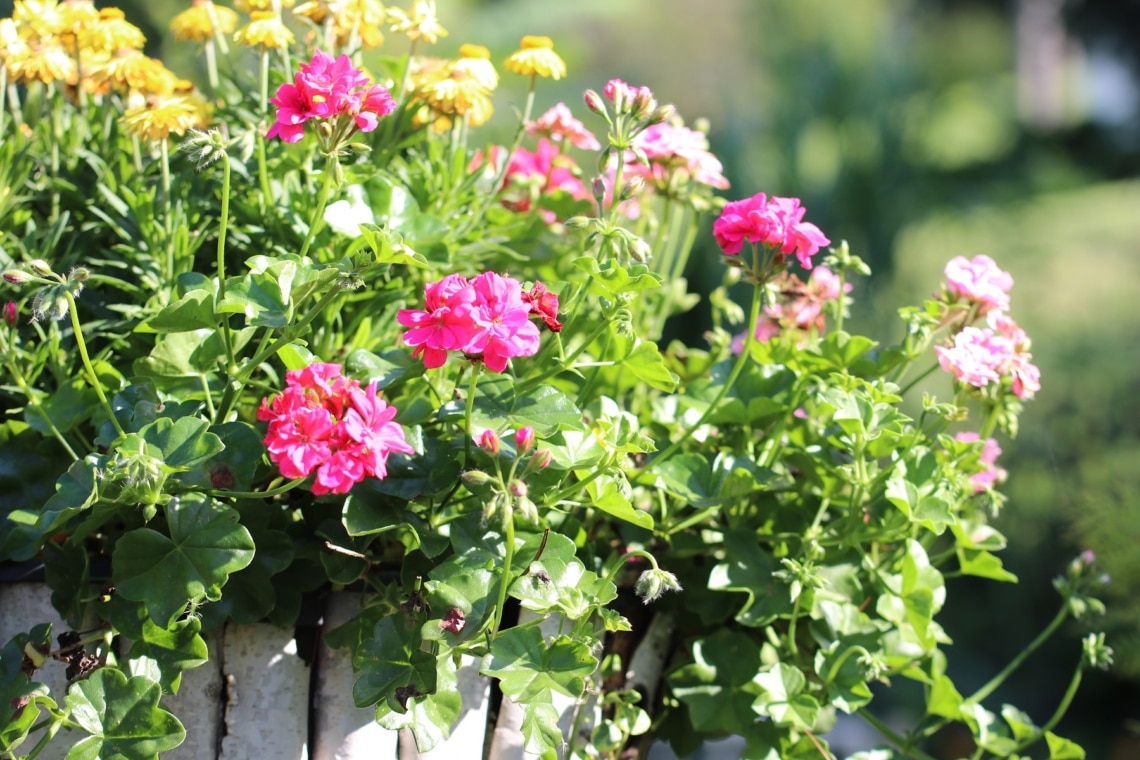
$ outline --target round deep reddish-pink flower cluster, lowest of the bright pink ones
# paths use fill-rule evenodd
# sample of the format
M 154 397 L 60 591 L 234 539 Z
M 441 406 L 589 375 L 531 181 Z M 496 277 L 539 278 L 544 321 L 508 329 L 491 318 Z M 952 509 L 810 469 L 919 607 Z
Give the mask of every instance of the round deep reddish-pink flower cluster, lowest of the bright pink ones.
M 348 493 L 365 477 L 388 476 L 393 451 L 415 453 L 393 422 L 396 407 L 376 384 L 341 375 L 341 366 L 312 363 L 285 374 L 285 390 L 262 399 L 258 419 L 269 423 L 266 448 L 285 477 L 316 472 L 312 492 Z

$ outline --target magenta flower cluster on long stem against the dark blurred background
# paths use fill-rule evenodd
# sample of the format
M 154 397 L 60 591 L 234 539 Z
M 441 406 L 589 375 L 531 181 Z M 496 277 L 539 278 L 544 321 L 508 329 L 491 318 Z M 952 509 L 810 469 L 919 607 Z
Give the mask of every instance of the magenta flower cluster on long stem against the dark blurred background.
M 725 205 L 712 222 L 712 236 L 726 255 L 740 253 L 744 243 L 762 243 L 787 255 L 795 253 L 804 269 L 812 256 L 831 243 L 820 228 L 804 221 L 799 198 L 766 197 L 758 193 Z

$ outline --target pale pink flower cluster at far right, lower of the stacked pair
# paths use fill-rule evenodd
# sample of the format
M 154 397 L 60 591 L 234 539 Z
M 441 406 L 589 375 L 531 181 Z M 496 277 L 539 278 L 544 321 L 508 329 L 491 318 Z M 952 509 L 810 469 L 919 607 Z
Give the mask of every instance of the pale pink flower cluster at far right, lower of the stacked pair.
M 964 327 L 951 345 L 935 346 L 938 363 L 954 379 L 986 387 L 1008 377 L 1013 394 L 1032 399 L 1041 390 L 1041 371 L 1029 360 L 1029 338 L 1009 316 L 993 311 L 988 327 Z

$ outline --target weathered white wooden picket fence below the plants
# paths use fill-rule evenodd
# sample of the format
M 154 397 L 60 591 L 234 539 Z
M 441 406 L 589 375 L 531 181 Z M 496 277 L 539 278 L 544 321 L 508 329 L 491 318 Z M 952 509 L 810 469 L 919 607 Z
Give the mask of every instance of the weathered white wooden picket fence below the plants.
M 51 593 L 43 583 L 0 585 L 0 643 L 42 622 L 51 622 L 54 634 L 67 630 L 50 598 Z M 359 595 L 334 595 L 325 610 L 321 629 L 336 628 L 359 604 Z M 555 634 L 557 624 L 556 619 L 544 621 L 544 632 Z M 463 713 L 453 726 L 450 738 L 421 753 L 410 732 L 381 728 L 373 720 L 373 709 L 353 705 L 355 677 L 348 651 L 329 649 L 321 641 L 310 668 L 298 656 L 293 631 L 269 624 L 227 626 L 211 635 L 206 644 L 210 662 L 186 671 L 178 694 L 162 700 L 162 705 L 186 726 L 186 741 L 163 753 L 164 760 L 482 760 L 484 757 L 490 679 L 479 675 L 474 660 L 459 669 Z M 63 701 L 66 689 L 63 663 L 49 662 L 36 672 L 36 679 L 50 687 L 56 700 Z M 562 697 L 555 706 L 562 716 L 565 735 L 573 701 Z M 522 710 L 504 698 L 490 738 L 489 760 L 522 760 L 521 724 Z M 60 732 L 40 758 L 63 758 L 83 735 L 76 734 L 73 742 L 68 738 L 66 732 Z M 34 737 L 31 741 L 34 743 Z

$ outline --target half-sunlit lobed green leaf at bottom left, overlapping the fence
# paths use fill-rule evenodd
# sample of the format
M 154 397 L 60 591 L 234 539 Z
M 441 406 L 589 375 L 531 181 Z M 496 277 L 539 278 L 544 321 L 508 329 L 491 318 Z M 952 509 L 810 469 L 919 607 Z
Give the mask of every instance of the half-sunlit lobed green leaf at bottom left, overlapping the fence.
M 128 679 L 114 668 L 100 668 L 67 693 L 71 719 L 91 736 L 67 758 L 148 760 L 186 738 L 178 718 L 158 706 L 162 689 L 142 676 Z

